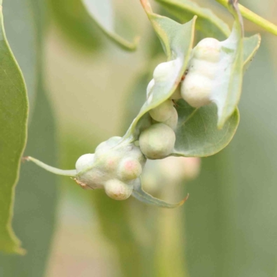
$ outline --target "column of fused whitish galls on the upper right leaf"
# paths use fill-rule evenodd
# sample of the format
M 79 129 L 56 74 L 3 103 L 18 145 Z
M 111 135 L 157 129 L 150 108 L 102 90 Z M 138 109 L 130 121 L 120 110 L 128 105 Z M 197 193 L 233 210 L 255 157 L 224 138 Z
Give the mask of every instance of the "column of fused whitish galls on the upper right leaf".
M 215 77 L 221 59 L 221 43 L 217 39 L 202 39 L 193 49 L 188 73 L 181 82 L 181 97 L 192 107 L 202 107 L 211 102 Z

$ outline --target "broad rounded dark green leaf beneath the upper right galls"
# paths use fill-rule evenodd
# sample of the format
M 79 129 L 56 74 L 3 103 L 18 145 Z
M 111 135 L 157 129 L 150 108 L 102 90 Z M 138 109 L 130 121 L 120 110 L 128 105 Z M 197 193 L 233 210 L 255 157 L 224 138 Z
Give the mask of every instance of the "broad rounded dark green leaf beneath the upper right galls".
M 193 108 L 184 100 L 177 102 L 178 125 L 172 156 L 207 157 L 229 144 L 240 121 L 238 109 L 217 129 L 217 108 L 214 104 Z

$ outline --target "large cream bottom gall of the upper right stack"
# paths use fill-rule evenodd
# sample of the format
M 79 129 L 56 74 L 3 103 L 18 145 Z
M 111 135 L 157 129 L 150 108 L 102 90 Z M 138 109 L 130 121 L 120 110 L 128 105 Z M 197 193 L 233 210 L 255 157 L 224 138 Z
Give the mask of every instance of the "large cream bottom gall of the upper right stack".
M 199 75 L 191 73 L 186 75 L 186 79 L 181 84 L 181 96 L 192 107 L 202 107 L 211 102 L 211 92 L 213 81 Z

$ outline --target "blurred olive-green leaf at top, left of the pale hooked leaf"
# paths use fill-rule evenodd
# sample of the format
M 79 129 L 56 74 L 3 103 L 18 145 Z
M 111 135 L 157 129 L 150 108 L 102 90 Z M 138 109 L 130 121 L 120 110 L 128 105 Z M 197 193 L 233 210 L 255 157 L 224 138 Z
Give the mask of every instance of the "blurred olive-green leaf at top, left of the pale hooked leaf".
M 80 0 L 48 0 L 51 15 L 71 44 L 85 51 L 102 46 L 101 31 Z

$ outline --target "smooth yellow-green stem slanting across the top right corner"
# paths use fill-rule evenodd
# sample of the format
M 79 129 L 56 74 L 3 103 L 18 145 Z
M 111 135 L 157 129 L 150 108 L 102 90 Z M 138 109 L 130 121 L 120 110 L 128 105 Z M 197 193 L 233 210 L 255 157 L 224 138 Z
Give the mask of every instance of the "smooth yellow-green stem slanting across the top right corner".
M 215 0 L 215 1 L 222 4 L 222 6 L 228 8 L 228 5 L 229 5 L 228 0 Z M 252 21 L 253 23 L 257 24 L 258 26 L 264 28 L 269 33 L 277 35 L 277 26 L 275 24 L 267 21 L 267 19 L 264 19 L 264 18 L 260 17 L 259 15 L 256 15 L 255 12 L 252 12 L 251 10 L 249 10 L 248 8 L 245 8 L 244 6 L 242 6 L 240 4 L 238 6 L 239 6 L 240 12 L 244 18 L 246 18 L 249 21 Z

